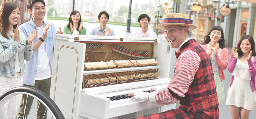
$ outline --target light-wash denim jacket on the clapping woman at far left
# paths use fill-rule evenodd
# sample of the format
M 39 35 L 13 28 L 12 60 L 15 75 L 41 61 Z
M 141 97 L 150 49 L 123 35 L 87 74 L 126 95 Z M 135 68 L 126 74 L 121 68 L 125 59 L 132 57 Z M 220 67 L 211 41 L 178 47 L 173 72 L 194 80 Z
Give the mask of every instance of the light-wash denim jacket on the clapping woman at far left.
M 14 29 L 13 29 L 14 30 Z M 27 44 L 27 38 L 20 32 L 21 42 L 13 40 L 13 36 L 7 31 L 6 39 L 0 34 L 0 76 L 14 77 L 16 53 L 19 53 L 21 74 L 26 73 L 24 60 L 29 61 L 33 56 L 33 44 Z

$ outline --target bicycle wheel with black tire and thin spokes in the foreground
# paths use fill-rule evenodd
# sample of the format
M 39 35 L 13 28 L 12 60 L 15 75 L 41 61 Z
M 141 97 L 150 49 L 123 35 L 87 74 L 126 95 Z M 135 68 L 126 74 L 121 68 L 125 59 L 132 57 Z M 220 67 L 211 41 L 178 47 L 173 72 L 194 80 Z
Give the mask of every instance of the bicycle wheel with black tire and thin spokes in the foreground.
M 34 97 L 34 99 L 37 99 L 39 101 L 39 104 L 43 104 L 46 107 L 45 112 L 48 111 L 47 118 L 65 119 L 60 109 L 57 107 L 57 105 L 48 95 L 46 95 L 45 93 L 43 93 L 42 91 L 36 88 L 26 87 L 26 86 L 14 87 L 6 91 L 3 95 L 0 96 L 0 109 L 4 111 L 6 117 L 7 117 L 7 109 L 5 109 L 7 105 L 6 102 L 8 102 L 9 100 L 11 102 L 14 102 L 12 101 L 12 97 L 15 97 L 16 95 L 21 95 L 21 94 L 23 94 L 22 98 L 23 96 L 29 95 Z M 26 101 L 24 101 L 24 103 L 26 104 Z M 26 106 L 24 107 L 24 109 L 25 108 Z M 18 115 L 18 112 L 17 112 L 17 115 Z M 17 118 L 19 119 L 19 117 Z

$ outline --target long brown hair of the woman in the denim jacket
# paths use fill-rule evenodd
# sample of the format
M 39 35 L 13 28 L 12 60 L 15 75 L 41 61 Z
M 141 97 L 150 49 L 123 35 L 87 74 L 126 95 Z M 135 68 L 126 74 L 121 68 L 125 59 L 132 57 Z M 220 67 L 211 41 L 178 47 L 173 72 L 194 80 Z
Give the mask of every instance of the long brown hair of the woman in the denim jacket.
M 9 39 L 9 37 L 7 36 L 7 31 L 9 30 L 9 27 L 10 27 L 9 16 L 13 12 L 13 10 L 15 10 L 17 7 L 18 5 L 11 1 L 4 2 L 0 6 L 0 33 L 7 39 Z M 18 24 L 13 25 L 13 28 L 16 29 L 17 25 Z

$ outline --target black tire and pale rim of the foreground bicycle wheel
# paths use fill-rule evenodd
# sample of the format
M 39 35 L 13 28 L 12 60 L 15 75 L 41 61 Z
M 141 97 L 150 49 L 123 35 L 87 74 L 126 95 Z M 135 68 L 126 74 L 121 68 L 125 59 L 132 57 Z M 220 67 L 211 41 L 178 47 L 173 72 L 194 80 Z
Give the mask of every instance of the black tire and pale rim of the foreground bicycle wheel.
M 65 119 L 59 107 L 54 103 L 54 101 L 41 90 L 33 87 L 21 86 L 7 90 L 4 94 L 0 96 L 0 104 L 2 104 L 2 101 L 9 100 L 11 96 L 18 94 L 26 94 L 37 98 L 42 104 L 44 104 L 48 111 L 51 112 L 52 116 L 55 119 Z

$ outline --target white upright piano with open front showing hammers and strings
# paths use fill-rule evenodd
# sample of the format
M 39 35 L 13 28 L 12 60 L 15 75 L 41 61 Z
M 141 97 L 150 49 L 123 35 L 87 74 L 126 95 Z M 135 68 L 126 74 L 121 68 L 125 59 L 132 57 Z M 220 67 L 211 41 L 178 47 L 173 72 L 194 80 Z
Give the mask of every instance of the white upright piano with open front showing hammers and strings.
M 88 47 L 89 45 L 86 47 L 86 44 L 100 44 L 102 48 Z M 84 71 L 84 62 L 125 59 L 124 57 L 131 59 L 132 56 L 122 56 L 120 52 L 115 52 L 114 44 L 150 51 L 149 57 L 155 58 L 159 63 L 155 66 Z M 93 48 L 97 51 L 92 51 Z M 171 48 L 169 44 L 160 43 L 160 39 L 56 34 L 50 98 L 66 119 L 133 119 L 175 109 L 178 104 L 158 106 L 149 101 L 130 100 L 125 96 L 127 93 L 150 90 L 158 85 L 167 86 L 171 80 L 170 62 Z M 157 71 L 158 79 L 84 88 L 84 75 L 148 69 Z M 119 99 L 115 100 L 115 97 Z

